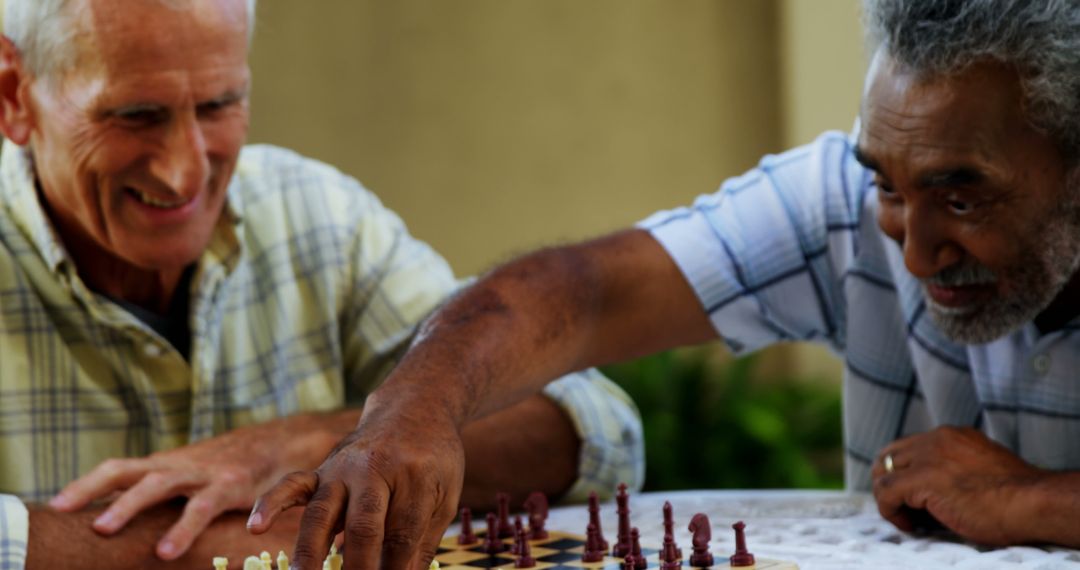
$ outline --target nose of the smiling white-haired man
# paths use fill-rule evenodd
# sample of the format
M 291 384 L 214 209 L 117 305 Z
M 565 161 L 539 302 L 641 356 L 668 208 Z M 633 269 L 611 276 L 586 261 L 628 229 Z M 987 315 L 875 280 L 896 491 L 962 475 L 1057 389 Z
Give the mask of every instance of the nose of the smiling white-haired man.
M 177 117 L 164 133 L 165 140 L 152 159 L 154 178 L 184 198 L 194 198 L 210 178 L 210 159 L 202 125 L 192 114 Z

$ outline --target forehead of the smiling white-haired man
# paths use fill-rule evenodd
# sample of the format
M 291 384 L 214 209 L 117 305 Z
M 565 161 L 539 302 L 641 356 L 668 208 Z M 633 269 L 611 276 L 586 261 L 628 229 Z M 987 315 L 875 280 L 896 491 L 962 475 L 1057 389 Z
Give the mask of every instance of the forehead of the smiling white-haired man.
M 77 67 L 138 72 L 180 68 L 207 56 L 246 58 L 245 0 L 82 0 L 76 4 Z

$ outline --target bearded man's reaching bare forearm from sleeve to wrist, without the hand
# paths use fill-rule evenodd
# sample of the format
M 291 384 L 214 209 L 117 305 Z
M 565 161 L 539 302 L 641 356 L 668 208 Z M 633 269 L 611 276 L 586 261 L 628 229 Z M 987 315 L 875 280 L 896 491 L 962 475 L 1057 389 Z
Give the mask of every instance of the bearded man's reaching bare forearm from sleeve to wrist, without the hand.
M 625 232 L 539 252 L 480 281 L 426 323 L 368 403 L 437 405 L 461 425 L 566 372 L 713 336 L 666 253 Z

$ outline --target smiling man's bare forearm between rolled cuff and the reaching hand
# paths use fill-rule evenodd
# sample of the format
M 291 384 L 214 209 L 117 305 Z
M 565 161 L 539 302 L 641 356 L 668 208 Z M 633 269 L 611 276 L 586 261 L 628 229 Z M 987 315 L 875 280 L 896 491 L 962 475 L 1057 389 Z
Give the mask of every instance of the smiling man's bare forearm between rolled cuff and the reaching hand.
M 465 483 L 461 505 L 495 506 L 495 492 L 521 504 L 532 491 L 556 498 L 578 477 L 581 442 L 569 418 L 536 395 L 465 425 Z

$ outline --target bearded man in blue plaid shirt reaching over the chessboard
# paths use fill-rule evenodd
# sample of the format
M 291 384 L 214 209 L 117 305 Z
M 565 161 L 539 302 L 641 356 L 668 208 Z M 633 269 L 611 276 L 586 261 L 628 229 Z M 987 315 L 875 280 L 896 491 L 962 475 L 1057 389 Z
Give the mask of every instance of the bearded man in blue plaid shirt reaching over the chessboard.
M 845 358 L 847 485 L 883 517 L 1080 546 L 1080 5 L 863 8 L 853 132 L 478 281 L 426 322 L 346 445 L 260 498 L 253 528 L 311 501 L 299 568 L 342 528 L 356 568 L 430 559 L 448 519 L 432 489 L 461 477 L 447 457 L 471 419 L 597 363 L 800 340 Z

